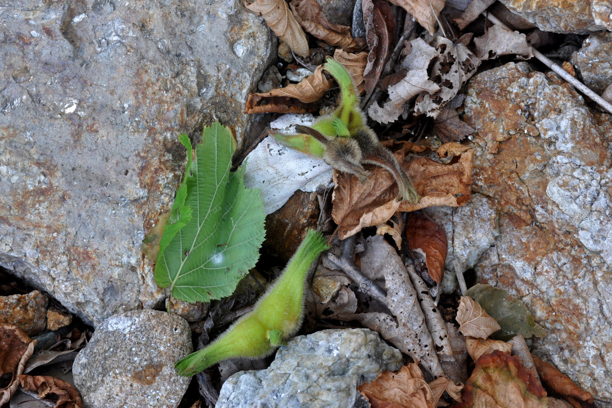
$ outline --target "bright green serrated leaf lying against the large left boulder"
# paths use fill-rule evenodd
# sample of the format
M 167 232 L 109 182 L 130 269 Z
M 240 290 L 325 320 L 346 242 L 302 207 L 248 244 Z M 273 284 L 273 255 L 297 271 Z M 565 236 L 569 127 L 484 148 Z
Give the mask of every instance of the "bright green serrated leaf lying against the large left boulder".
M 160 241 L 155 280 L 177 299 L 209 302 L 229 296 L 255 266 L 263 242 L 259 190 L 244 187 L 244 168 L 230 172 L 236 141 L 215 122 L 204 128 L 195 159 L 187 135 L 185 177 Z

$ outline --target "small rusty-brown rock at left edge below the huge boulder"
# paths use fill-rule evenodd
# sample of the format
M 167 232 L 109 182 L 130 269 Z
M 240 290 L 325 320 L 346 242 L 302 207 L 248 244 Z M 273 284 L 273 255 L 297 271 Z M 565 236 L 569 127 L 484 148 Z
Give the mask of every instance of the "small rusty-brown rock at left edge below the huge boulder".
M 32 291 L 24 295 L 0 296 L 0 323 L 15 325 L 28 336 L 47 326 L 47 295 Z

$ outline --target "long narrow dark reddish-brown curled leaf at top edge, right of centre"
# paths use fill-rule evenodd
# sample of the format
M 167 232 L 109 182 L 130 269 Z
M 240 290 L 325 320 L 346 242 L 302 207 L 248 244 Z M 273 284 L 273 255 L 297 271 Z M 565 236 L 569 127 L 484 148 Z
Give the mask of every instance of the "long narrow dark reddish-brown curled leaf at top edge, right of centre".
M 365 40 L 370 48 L 364 69 L 365 92 L 378 83 L 389 50 L 395 42 L 395 20 L 391 6 L 382 0 L 363 0 Z

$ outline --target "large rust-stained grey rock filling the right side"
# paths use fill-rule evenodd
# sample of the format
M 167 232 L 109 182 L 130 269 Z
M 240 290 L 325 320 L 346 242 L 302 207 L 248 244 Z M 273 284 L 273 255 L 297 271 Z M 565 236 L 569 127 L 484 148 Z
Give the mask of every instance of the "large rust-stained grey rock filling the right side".
M 472 190 L 492 199 L 499 236 L 475 269 L 528 306 L 547 335 L 534 352 L 612 399 L 612 170 L 603 133 L 572 87 L 506 64 L 472 78 Z

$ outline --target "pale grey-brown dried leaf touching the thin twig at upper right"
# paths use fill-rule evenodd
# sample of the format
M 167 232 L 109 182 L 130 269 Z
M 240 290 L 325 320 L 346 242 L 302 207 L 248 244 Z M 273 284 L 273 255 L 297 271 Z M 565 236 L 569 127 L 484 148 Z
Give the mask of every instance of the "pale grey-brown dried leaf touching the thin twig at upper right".
M 501 24 L 489 28 L 485 35 L 474 39 L 476 56 L 482 61 L 501 55 L 517 55 L 524 59 L 534 56 L 527 37 L 518 31 L 510 31 Z

